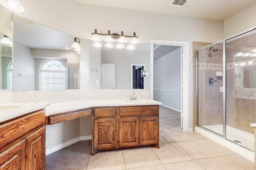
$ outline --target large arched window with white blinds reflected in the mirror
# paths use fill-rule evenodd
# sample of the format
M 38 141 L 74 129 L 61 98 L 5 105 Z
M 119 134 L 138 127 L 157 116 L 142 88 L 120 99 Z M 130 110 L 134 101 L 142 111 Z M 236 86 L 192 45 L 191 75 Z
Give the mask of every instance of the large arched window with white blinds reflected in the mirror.
M 65 66 L 60 61 L 47 60 L 39 70 L 39 90 L 65 90 Z

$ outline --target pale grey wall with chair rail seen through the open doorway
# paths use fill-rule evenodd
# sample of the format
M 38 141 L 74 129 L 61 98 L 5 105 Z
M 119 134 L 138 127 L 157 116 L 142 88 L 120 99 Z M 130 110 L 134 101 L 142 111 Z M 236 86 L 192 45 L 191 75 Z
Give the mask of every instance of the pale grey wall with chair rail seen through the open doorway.
M 180 111 L 181 48 L 154 61 L 154 100 Z

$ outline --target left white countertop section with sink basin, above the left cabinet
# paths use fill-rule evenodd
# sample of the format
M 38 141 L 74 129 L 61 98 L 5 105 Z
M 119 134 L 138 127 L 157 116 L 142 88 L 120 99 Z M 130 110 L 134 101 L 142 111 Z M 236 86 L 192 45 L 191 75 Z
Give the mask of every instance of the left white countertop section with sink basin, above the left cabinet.
M 43 109 L 50 103 L 10 103 L 0 104 L 0 122 L 19 117 L 26 113 Z

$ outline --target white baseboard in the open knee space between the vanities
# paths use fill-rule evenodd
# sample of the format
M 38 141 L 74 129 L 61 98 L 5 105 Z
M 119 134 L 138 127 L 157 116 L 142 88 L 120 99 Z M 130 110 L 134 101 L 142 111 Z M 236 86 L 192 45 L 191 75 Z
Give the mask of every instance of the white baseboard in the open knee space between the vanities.
M 45 152 L 45 154 L 48 155 L 48 154 L 51 154 L 51 153 L 53 153 L 53 152 L 56 152 L 56 151 L 58 151 L 58 150 L 60 150 L 60 149 L 63 149 L 63 148 L 65 148 L 65 147 L 68 147 L 69 145 L 72 145 L 72 144 L 74 144 L 74 143 L 77 143 L 77 142 L 79 142 L 79 141 L 86 141 L 86 140 L 91 140 L 91 139 L 92 139 L 92 135 L 89 135 L 89 136 L 80 136 L 80 137 L 77 137 L 77 138 L 72 139 L 72 140 L 70 140 L 70 141 L 67 141 L 67 142 L 65 142 L 65 143 L 62 143 L 62 144 L 60 144 L 60 145 L 57 145 L 57 146 L 55 146 L 55 147 L 52 147 L 52 148 L 50 148 L 50 149 L 47 149 L 46 152 Z

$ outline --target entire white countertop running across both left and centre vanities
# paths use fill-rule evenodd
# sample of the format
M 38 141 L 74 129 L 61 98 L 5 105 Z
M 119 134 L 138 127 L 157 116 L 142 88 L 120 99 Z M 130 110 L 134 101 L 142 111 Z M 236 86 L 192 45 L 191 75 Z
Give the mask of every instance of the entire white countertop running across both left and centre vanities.
M 26 113 L 43 109 L 45 107 L 45 116 L 74 111 L 78 109 L 86 109 L 90 107 L 104 106 L 142 106 L 142 105 L 162 105 L 151 99 L 116 99 L 116 100 L 76 100 L 60 103 L 10 103 L 0 104 L 0 122 L 19 117 Z

